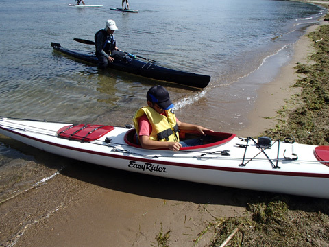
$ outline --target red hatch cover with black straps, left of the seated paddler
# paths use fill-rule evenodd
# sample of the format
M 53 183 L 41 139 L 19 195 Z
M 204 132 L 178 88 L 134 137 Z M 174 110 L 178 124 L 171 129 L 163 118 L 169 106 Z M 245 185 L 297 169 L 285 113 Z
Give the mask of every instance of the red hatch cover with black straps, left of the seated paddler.
M 70 139 L 81 142 L 95 141 L 104 134 L 113 130 L 113 126 L 102 126 L 96 124 L 71 124 L 60 128 L 57 132 L 59 138 Z

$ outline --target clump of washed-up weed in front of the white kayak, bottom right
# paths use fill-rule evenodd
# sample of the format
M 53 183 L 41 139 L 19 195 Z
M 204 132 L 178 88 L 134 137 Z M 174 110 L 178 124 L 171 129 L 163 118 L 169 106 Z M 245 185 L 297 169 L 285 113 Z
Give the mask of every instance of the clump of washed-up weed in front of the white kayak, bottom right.
M 221 246 L 236 227 L 239 231 L 228 246 L 329 246 L 326 202 L 293 196 L 262 197 L 248 204 L 244 217 L 215 220 L 219 224 L 215 223 L 216 237 L 210 246 Z

